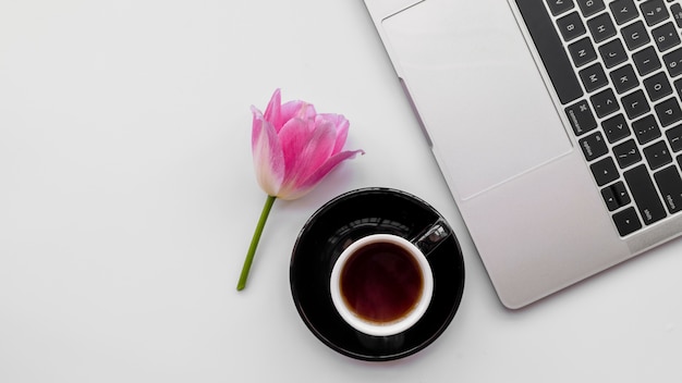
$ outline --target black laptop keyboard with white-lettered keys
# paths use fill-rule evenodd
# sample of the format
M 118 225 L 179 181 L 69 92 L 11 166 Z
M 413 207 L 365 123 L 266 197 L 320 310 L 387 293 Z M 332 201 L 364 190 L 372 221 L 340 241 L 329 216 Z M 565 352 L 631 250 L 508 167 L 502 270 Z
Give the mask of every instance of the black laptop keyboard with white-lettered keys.
M 621 236 L 682 210 L 682 0 L 517 0 Z

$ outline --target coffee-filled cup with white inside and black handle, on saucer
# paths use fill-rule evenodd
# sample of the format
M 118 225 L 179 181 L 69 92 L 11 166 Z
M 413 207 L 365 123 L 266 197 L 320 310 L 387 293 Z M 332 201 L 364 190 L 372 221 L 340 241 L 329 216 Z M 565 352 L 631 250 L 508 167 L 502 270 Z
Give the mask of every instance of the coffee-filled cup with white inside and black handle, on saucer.
M 427 255 L 450 235 L 444 227 L 436 223 L 413 240 L 372 234 L 348 246 L 329 282 L 341 318 L 373 336 L 395 335 L 416 324 L 434 294 Z

